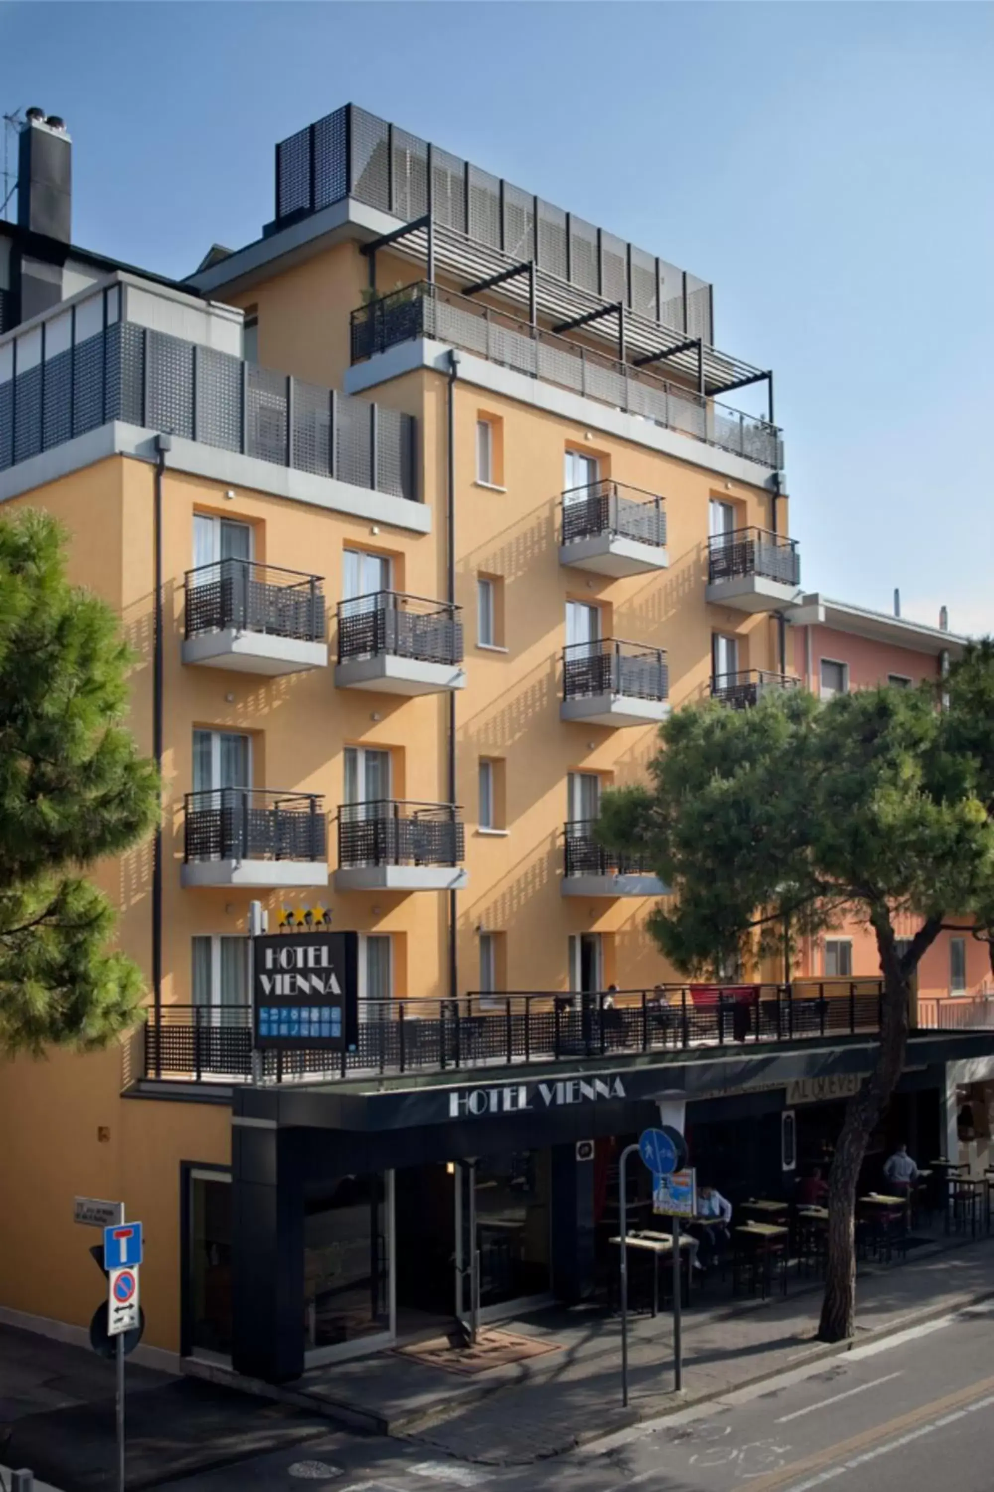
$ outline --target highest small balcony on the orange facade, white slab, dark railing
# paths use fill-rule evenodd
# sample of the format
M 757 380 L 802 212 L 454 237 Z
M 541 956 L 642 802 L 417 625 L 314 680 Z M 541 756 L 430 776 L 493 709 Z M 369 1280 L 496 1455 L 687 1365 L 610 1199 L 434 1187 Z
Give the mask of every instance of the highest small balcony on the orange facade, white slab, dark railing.
M 607 480 L 563 492 L 559 562 L 611 579 L 665 570 L 662 497 Z

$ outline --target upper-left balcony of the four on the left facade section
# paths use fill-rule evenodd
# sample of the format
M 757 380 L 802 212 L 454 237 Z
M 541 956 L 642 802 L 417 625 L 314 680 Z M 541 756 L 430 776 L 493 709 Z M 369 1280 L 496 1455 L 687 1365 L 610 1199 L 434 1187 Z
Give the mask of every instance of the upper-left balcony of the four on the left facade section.
M 279 677 L 328 664 L 320 576 L 219 560 L 186 571 L 183 662 Z

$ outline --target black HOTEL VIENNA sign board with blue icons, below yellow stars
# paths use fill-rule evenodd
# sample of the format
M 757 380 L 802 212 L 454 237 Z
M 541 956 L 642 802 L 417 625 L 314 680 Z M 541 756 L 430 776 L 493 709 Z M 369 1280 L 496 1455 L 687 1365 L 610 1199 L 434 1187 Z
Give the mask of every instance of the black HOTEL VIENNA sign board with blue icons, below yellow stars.
M 252 940 L 252 1009 L 261 1050 L 341 1052 L 358 1038 L 358 932 Z

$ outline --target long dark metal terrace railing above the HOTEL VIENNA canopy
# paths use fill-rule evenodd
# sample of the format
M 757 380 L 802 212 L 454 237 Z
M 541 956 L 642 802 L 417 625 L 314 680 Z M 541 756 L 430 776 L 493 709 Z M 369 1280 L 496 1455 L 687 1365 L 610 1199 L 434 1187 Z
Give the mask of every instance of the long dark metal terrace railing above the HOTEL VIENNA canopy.
M 879 1029 L 878 979 L 794 985 L 656 985 L 592 994 L 528 991 L 458 1000 L 361 1000 L 358 1041 L 319 1050 L 252 1052 L 252 1009 L 164 1006 L 145 1031 L 149 1076 L 262 1082 L 525 1067 L 580 1056 L 788 1046 Z M 919 1029 L 936 1022 L 918 1021 Z M 255 1061 L 253 1061 L 255 1058 Z M 589 1080 L 593 1080 L 592 1074 Z

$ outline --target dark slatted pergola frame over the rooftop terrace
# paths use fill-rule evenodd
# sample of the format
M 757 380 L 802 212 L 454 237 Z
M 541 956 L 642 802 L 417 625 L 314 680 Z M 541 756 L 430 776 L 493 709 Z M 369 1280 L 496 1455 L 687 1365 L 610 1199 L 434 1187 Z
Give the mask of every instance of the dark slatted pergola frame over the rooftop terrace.
M 534 260 L 514 260 L 487 243 L 437 222 L 431 213 L 362 245 L 370 261 L 370 286 L 376 289 L 377 254 L 382 249 L 425 266 L 425 279 L 437 283 L 444 272 L 460 283 L 460 294 L 480 295 L 499 289 L 508 300 L 528 307 L 531 325 L 547 316 L 556 334 L 590 327 L 596 336 L 605 321 L 614 321 L 614 343 L 621 363 L 633 367 L 668 364 L 681 379 L 709 398 L 765 382 L 767 419 L 773 424 L 773 374 L 741 358 L 718 352 L 702 337 L 665 327 L 629 310 L 623 301 L 608 301 L 539 269 Z

